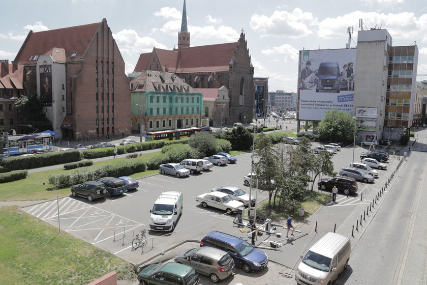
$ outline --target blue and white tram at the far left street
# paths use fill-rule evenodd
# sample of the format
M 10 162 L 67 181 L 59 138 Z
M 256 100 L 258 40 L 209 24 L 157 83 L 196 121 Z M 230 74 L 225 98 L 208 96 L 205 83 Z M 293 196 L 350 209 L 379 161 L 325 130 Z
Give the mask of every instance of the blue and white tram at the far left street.
M 3 153 L 7 155 L 31 153 L 35 149 L 52 150 L 50 133 L 18 134 L 8 136 L 8 146 L 3 141 Z

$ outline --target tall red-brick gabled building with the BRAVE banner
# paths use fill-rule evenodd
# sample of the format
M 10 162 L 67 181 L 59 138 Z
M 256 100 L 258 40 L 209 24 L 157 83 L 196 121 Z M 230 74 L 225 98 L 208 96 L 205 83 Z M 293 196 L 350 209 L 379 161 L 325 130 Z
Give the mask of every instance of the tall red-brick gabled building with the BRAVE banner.
M 33 33 L 13 64 L 37 92 L 58 137 L 131 132 L 129 79 L 107 20 Z

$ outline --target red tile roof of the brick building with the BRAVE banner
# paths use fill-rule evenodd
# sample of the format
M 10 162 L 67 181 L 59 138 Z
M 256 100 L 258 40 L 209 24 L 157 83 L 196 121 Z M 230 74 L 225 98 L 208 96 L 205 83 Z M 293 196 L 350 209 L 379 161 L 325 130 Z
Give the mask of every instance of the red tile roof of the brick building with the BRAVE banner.
M 101 23 L 93 23 L 37 33 L 30 31 L 14 61 L 23 65 L 35 65 L 37 61 L 29 61 L 30 56 L 34 59 L 35 55 L 45 54 L 53 47 L 65 49 L 67 62 L 80 61 L 100 25 Z M 71 58 L 75 51 L 77 55 Z

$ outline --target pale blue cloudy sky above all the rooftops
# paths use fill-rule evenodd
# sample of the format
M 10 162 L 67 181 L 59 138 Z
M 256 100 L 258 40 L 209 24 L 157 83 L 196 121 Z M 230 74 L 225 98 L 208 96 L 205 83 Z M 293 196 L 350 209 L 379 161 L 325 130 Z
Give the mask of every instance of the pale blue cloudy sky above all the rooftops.
M 131 73 L 139 54 L 177 46 L 184 0 L 0 0 L 0 60 L 15 59 L 29 31 L 101 22 L 113 33 Z M 427 1 L 187 0 L 190 45 L 237 42 L 245 33 L 254 77 L 268 90 L 296 92 L 298 51 L 351 47 L 360 31 L 386 29 L 393 46 L 418 46 L 418 74 L 427 74 Z M 427 80 L 418 76 L 417 80 Z

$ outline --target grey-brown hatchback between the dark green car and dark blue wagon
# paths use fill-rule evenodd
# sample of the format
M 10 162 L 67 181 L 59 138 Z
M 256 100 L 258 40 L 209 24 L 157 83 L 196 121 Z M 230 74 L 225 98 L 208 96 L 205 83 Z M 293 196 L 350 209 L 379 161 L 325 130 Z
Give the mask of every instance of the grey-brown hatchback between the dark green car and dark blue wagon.
M 227 278 L 234 270 L 234 261 L 230 254 L 210 246 L 178 252 L 175 262 L 193 267 L 197 273 L 209 276 L 214 283 Z

